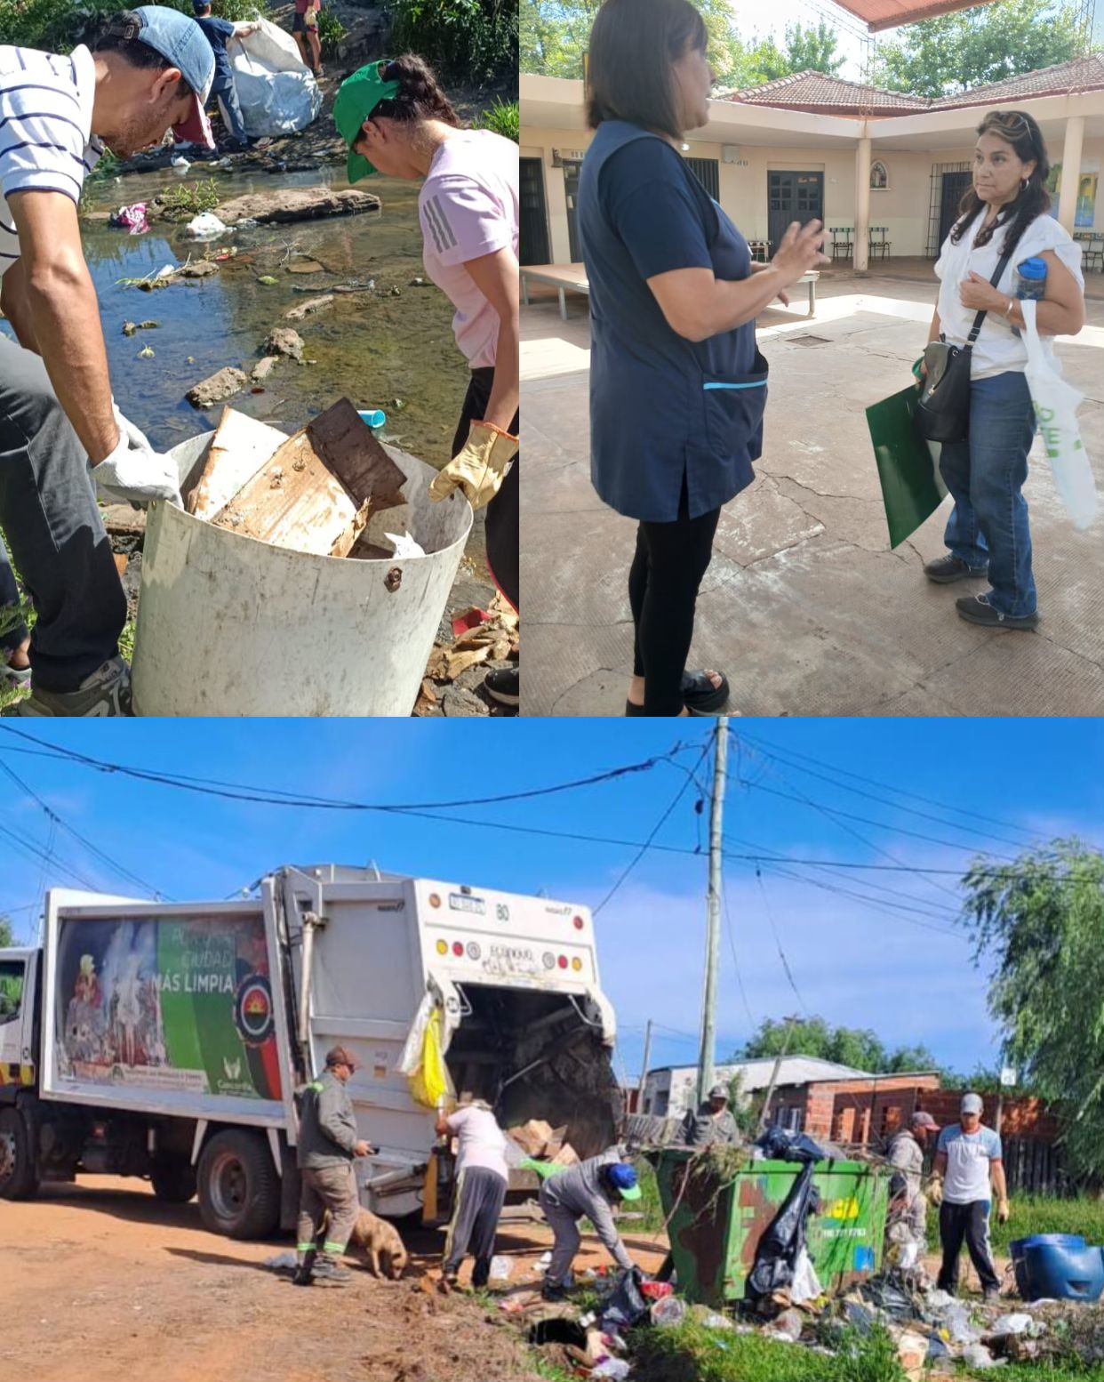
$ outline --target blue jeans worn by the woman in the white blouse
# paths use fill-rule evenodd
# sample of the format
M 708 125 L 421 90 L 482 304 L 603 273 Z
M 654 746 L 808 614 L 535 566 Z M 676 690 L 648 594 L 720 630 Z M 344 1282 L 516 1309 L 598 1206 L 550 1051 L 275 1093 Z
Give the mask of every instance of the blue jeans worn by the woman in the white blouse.
M 1035 614 L 1031 528 L 1022 485 L 1035 435 L 1035 409 L 1020 370 L 970 384 L 970 435 L 946 442 L 940 471 L 955 500 L 944 542 L 971 567 L 988 562 L 989 604 L 1002 614 Z

